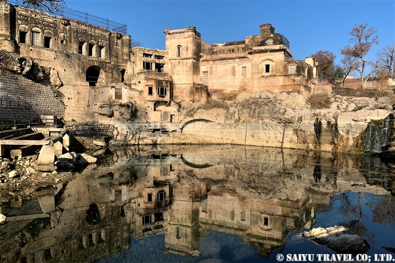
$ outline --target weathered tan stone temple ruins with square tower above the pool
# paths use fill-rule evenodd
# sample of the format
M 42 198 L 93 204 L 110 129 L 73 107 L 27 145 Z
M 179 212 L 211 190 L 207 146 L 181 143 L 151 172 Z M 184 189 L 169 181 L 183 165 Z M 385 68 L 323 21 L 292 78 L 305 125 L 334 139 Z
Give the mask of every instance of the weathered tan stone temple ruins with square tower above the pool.
M 2 74 L 0 96 L 7 102 L 17 95 L 17 105 L 24 105 L 15 107 L 13 118 L 31 108 L 66 121 L 178 122 L 172 101 L 205 102 L 252 91 L 309 94 L 317 80 L 317 63 L 293 60 L 288 39 L 271 24 L 245 40 L 212 45 L 193 26 L 164 29 L 166 50 L 158 50 L 131 47 L 126 26 L 104 28 L 5 0 L 0 12 L 1 49 L 48 75 L 33 79 L 38 86 L 26 97 L 14 93 L 31 86 L 21 76 L 29 70 L 26 63 Z M 20 81 L 8 83 L 9 78 Z M 52 92 L 55 98 L 44 109 L 41 95 L 49 99 Z

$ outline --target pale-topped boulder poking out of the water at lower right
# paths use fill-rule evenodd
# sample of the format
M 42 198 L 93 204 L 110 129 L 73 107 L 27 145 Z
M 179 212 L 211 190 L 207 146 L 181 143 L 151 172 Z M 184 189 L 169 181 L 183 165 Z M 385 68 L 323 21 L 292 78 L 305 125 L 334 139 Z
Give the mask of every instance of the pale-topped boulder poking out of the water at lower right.
M 313 228 L 302 235 L 318 244 L 325 245 L 336 253 L 363 254 L 369 249 L 369 244 L 361 237 L 345 227 Z

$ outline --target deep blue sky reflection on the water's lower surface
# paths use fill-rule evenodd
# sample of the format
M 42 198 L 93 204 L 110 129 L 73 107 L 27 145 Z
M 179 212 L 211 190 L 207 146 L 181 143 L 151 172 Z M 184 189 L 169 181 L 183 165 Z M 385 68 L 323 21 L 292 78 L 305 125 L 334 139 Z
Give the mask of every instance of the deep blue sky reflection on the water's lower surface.
M 358 193 L 345 193 L 348 203 L 345 203 L 343 194 L 337 194 L 332 201 L 332 210 L 329 212 L 317 213 L 317 227 L 332 227 L 340 223 L 348 223 L 351 220 L 358 220 L 360 215 L 358 206 L 359 194 Z M 364 194 L 365 200 L 368 205 L 375 210 L 375 207 L 383 206 L 385 198 L 391 200 L 392 206 L 394 205 L 393 196 L 384 197 L 372 194 Z M 353 210 L 346 209 L 346 205 Z M 356 208 L 356 209 L 355 209 Z M 366 205 L 365 201 L 361 199 L 362 218 L 361 223 L 366 226 L 366 233 L 363 234 L 370 244 L 370 249 L 367 254 L 372 256 L 374 254 L 389 253 L 381 246 L 394 247 L 395 246 L 395 225 L 393 222 L 386 222 L 384 224 L 373 223 L 372 210 Z M 351 212 L 350 212 L 351 211 Z M 393 218 L 393 217 L 392 217 Z M 303 232 L 301 230 L 300 232 Z M 204 239 L 201 240 L 199 251 L 200 256 L 188 258 L 183 255 L 177 254 L 164 254 L 162 249 L 165 244 L 165 235 L 151 236 L 139 240 L 131 238 L 131 249 L 122 251 L 120 254 L 111 255 L 109 258 L 101 262 L 278 262 L 275 256 L 278 253 L 298 254 L 298 253 L 326 253 L 335 254 L 335 252 L 325 246 L 316 245 L 306 238 L 300 237 L 295 232 L 290 232 L 287 237 L 287 243 L 282 251 L 275 249 L 270 254 L 269 258 L 261 258 L 257 256 L 257 248 L 244 244 L 242 236 L 235 236 L 221 232 L 210 232 Z M 395 256 L 395 255 L 393 255 Z M 219 259 L 219 260 L 218 260 Z M 314 257 L 315 262 L 317 257 Z M 354 259 L 355 260 L 355 259 Z M 286 260 L 284 260 L 286 261 Z

